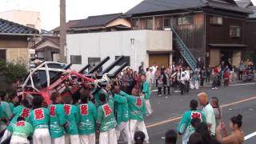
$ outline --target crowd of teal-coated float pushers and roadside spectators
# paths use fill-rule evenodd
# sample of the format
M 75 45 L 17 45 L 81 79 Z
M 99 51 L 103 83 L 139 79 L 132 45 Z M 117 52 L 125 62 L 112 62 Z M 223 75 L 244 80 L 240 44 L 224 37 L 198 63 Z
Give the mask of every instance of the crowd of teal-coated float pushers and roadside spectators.
M 190 67 L 158 68 L 154 64 L 145 71 L 142 63 L 138 72 L 126 68 L 105 87 L 88 84 L 79 91 L 78 101 L 53 92 L 50 106 L 45 106 L 39 95 L 34 95 L 30 102 L 22 99 L 15 88 L 7 93 L 0 91 L 1 143 L 29 143 L 32 139 L 34 144 L 94 144 L 97 136 L 100 144 L 149 143 L 144 118 L 153 113 L 152 86 L 158 87 L 158 96 L 162 92 L 170 95 L 173 89 L 185 94 L 210 82 L 211 74 L 220 73 L 217 70 L 218 66 L 213 70 L 197 67 L 193 72 Z M 213 85 L 218 85 L 214 79 Z M 17 86 L 18 81 L 13 84 Z M 202 110 L 198 110 L 198 103 Z M 198 101 L 190 101 L 190 110 L 183 114 L 177 130 L 166 132 L 166 144 L 176 143 L 178 135 L 182 136 L 183 144 L 241 144 L 242 115 L 230 119 L 231 135 L 227 134 L 222 115 L 218 98 L 209 101 L 206 93 L 198 94 Z

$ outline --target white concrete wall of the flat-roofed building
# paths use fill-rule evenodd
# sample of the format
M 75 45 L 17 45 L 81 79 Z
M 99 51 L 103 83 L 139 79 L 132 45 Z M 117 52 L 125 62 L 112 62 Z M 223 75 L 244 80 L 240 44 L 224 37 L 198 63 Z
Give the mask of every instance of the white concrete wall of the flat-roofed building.
M 74 65 L 72 68 L 75 70 L 86 65 L 88 58 L 103 59 L 110 56 L 110 62 L 114 62 L 115 56 L 118 55 L 130 56 L 130 66 L 137 70 L 141 62 L 144 62 L 145 66 L 149 65 L 146 50 L 172 50 L 171 31 L 129 30 L 67 34 L 66 38 L 67 62 L 70 62 L 70 55 L 82 55 L 82 65 Z M 134 38 L 134 45 L 131 43 L 131 38 Z

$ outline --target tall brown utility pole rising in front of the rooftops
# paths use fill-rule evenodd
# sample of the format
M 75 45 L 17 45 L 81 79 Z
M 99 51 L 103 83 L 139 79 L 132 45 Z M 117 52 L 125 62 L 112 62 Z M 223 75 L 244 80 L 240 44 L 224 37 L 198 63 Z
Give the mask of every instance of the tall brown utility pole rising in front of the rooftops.
M 60 0 L 59 62 L 66 63 L 66 0 Z

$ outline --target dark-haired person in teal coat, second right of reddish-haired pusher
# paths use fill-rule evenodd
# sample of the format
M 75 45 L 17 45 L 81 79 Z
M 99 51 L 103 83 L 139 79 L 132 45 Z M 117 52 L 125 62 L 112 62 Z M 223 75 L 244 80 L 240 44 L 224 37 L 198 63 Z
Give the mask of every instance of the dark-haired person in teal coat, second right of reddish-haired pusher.
M 83 90 L 80 95 L 81 104 L 78 105 L 78 134 L 81 143 L 95 143 L 95 124 L 97 110 L 94 103 L 88 102 L 90 91 Z

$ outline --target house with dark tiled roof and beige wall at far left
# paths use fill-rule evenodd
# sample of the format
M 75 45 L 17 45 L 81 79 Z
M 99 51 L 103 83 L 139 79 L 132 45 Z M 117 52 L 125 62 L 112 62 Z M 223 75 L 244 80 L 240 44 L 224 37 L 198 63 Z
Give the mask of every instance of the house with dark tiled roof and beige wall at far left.
M 28 38 L 37 34 L 39 31 L 36 29 L 0 18 L 0 59 L 7 62 L 28 62 Z

